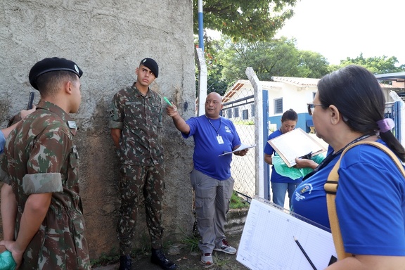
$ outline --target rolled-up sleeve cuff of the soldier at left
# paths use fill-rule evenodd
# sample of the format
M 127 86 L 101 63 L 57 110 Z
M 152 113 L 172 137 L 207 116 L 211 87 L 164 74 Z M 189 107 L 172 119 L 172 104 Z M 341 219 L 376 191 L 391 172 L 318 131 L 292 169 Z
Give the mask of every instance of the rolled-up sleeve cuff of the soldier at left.
M 25 174 L 23 190 L 27 195 L 62 192 L 62 176 L 57 172 L 46 174 Z

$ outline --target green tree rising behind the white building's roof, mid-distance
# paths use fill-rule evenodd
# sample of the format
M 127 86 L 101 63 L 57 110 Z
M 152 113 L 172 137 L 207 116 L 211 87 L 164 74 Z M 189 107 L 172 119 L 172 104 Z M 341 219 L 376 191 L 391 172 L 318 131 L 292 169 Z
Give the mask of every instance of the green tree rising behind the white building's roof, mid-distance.
M 222 76 L 227 81 L 246 79 L 245 70 L 252 67 L 262 81 L 270 81 L 273 76 L 319 78 L 328 73 L 328 62 L 319 53 L 299 51 L 295 39 L 271 39 L 250 43 L 240 41 L 225 42 L 221 58 Z

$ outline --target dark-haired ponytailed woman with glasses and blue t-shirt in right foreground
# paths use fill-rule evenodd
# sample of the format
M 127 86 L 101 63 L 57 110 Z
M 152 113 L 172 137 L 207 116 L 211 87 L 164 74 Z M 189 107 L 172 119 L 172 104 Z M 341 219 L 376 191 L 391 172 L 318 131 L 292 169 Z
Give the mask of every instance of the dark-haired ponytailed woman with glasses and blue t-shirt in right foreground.
M 385 119 L 385 94 L 375 76 L 356 65 L 326 75 L 308 106 L 316 136 L 333 151 L 293 195 L 297 214 L 330 226 L 323 185 L 342 150 L 356 141 L 378 141 L 404 162 L 405 150 Z M 345 252 L 352 257 L 328 269 L 405 269 L 405 179 L 389 155 L 354 146 L 340 162 L 336 211 Z M 320 247 L 321 248 L 321 247 Z

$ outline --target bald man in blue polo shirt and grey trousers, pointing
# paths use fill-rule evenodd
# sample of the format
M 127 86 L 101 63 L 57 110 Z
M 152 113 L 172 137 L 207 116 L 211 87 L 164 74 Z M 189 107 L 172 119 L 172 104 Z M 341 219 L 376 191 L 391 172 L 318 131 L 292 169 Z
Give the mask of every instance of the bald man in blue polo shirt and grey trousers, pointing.
M 166 109 L 182 136 L 194 137 L 191 186 L 195 191 L 197 226 L 202 238 L 198 245 L 204 264 L 213 263 L 213 250 L 236 253 L 236 248 L 229 245 L 224 234 L 234 182 L 231 176 L 232 155 L 221 154 L 236 150 L 241 143 L 231 120 L 219 115 L 222 108 L 221 96 L 212 92 L 205 100 L 205 115 L 184 121 L 175 105 Z M 241 150 L 235 155 L 246 155 L 247 152 L 248 149 Z

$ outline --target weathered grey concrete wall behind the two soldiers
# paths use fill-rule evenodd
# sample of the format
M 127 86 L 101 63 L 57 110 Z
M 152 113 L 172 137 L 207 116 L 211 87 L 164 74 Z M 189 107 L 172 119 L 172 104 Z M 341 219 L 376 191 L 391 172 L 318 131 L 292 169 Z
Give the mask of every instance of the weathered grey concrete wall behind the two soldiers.
M 81 158 L 81 193 L 91 258 L 117 251 L 120 207 L 118 165 L 108 129 L 113 94 L 132 84 L 144 57 L 160 71 L 152 88 L 178 105 L 184 118 L 195 112 L 191 0 L 4 0 L 0 1 L 0 127 L 25 108 L 34 90 L 28 72 L 38 60 L 74 60 L 84 75 L 82 105 L 72 115 Z M 39 100 L 36 91 L 35 103 Z M 165 240 L 191 232 L 192 195 L 188 173 L 193 141 L 185 141 L 163 116 L 166 161 Z M 139 208 L 138 246 L 148 245 L 144 207 Z

